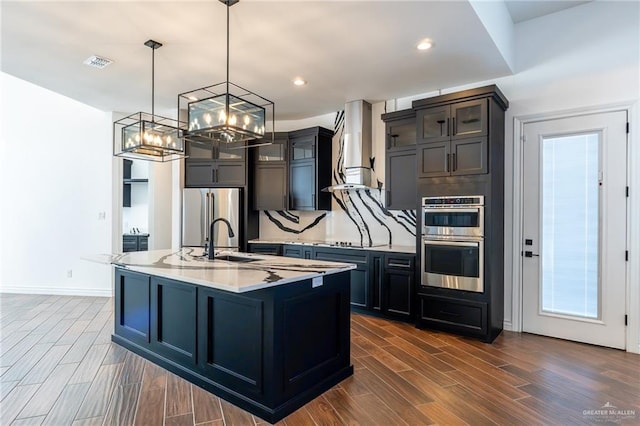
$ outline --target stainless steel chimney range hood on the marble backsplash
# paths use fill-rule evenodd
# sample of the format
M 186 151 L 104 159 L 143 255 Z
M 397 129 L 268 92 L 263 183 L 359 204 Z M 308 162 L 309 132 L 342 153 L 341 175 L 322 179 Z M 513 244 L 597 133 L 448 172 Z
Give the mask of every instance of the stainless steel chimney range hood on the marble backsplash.
M 323 191 L 378 189 L 371 176 L 371 154 L 371 104 L 363 100 L 347 102 L 344 108 L 345 182 Z

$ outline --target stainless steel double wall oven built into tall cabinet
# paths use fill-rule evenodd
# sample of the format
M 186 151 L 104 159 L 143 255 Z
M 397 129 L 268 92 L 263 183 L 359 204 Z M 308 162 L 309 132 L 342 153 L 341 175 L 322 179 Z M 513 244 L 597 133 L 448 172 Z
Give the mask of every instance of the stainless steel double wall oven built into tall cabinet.
M 484 196 L 422 199 L 421 285 L 484 291 Z

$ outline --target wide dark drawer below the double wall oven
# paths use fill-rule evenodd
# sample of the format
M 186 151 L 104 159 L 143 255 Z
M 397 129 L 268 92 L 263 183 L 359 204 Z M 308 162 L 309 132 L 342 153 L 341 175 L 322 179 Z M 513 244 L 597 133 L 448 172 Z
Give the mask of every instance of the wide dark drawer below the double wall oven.
M 487 304 L 482 302 L 420 296 L 420 316 L 425 322 L 467 333 L 486 334 L 488 330 Z

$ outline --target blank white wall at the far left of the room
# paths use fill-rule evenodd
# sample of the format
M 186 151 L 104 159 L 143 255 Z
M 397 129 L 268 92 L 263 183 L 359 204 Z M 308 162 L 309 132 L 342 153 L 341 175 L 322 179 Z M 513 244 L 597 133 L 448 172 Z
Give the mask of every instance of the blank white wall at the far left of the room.
M 110 266 L 83 260 L 112 252 L 110 115 L 4 73 L 0 87 L 0 291 L 110 295 Z

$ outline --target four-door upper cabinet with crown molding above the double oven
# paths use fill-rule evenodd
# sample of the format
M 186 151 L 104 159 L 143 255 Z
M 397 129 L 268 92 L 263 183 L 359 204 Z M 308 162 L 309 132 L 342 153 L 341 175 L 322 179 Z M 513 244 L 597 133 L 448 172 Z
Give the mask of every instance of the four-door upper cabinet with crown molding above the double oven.
M 491 123 L 506 107 L 496 86 L 414 101 L 418 177 L 488 173 L 492 132 L 504 132 Z

